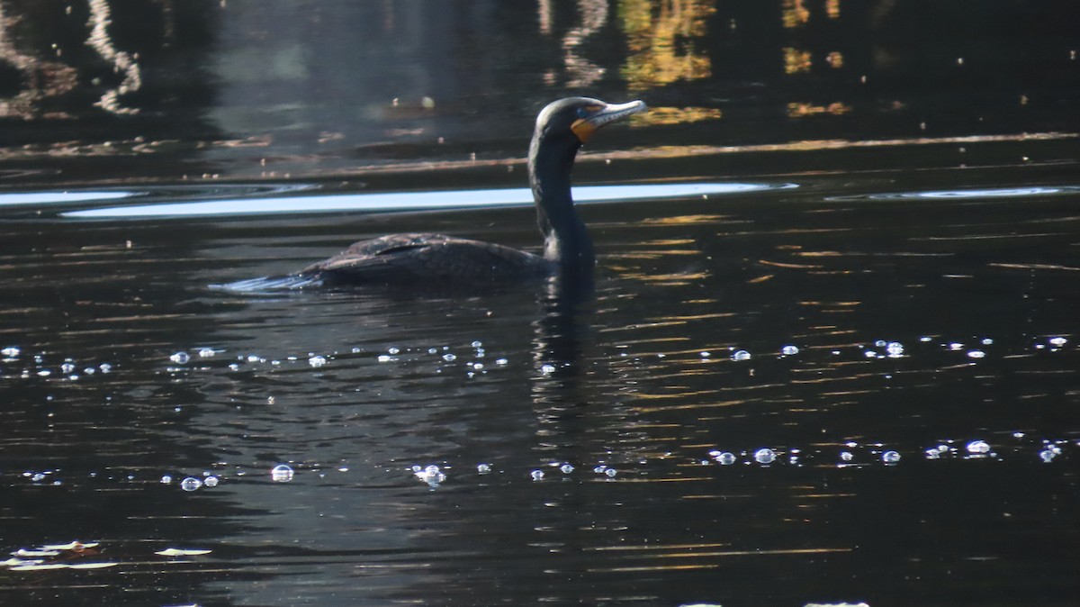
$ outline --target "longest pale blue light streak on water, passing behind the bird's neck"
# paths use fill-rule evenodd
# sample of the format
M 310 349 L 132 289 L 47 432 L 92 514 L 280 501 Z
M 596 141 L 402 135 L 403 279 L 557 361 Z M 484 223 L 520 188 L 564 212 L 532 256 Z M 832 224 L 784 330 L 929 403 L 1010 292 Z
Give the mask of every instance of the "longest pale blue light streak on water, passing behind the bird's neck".
M 727 194 L 757 190 L 795 188 L 795 184 L 654 184 L 631 186 L 584 186 L 573 188 L 578 202 L 646 200 Z M 370 194 L 307 195 L 288 198 L 245 198 L 217 201 L 178 202 L 135 206 L 111 206 L 62 213 L 64 217 L 146 218 L 251 215 L 274 213 L 325 213 L 335 211 L 431 211 L 483 206 L 532 204 L 526 188 L 389 192 Z

